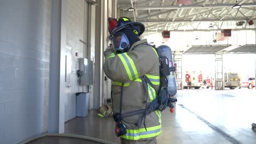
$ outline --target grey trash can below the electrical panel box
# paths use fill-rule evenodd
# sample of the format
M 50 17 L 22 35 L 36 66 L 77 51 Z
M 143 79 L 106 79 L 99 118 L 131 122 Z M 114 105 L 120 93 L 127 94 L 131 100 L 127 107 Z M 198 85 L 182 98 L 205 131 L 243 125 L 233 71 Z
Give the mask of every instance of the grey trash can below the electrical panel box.
M 79 92 L 76 95 L 76 113 L 77 117 L 86 117 L 88 115 L 89 107 L 89 93 Z

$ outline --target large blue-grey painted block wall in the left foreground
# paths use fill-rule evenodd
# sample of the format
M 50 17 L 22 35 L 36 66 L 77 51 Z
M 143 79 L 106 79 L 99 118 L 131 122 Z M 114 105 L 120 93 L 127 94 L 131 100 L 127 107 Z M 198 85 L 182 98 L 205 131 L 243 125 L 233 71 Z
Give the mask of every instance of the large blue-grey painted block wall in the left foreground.
M 51 1 L 0 2 L 0 143 L 47 130 Z

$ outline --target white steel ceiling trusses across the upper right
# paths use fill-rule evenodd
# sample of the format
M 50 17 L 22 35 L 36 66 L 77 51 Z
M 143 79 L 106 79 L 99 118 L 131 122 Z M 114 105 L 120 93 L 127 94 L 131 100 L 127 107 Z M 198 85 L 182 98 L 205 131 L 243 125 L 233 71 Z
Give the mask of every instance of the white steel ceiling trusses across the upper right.
M 123 16 L 135 21 L 132 13 L 126 11 L 131 7 L 131 2 L 136 9 L 136 21 L 142 22 L 146 26 L 145 32 L 148 33 L 164 30 L 209 31 L 200 26 L 205 22 L 217 23 L 214 31 L 220 30 L 225 27 L 226 22 L 232 21 L 246 22 L 242 27 L 232 29 L 256 28 L 247 25 L 249 20 L 256 19 L 255 0 L 238 0 L 237 4 L 242 5 L 239 9 L 231 8 L 236 0 L 193 0 L 191 4 L 178 4 L 178 0 L 118 0 L 118 8 L 123 10 Z M 184 26 L 188 29 L 182 29 Z

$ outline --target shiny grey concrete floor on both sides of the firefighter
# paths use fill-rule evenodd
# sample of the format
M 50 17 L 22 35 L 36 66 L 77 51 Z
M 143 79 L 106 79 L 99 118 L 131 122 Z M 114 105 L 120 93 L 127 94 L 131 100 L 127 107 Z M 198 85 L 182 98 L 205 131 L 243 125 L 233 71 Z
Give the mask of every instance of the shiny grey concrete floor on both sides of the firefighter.
M 174 113 L 162 112 L 158 143 L 256 143 L 256 131 L 251 126 L 256 123 L 255 89 L 185 89 L 178 91 L 177 98 Z M 114 135 L 112 117 L 97 117 L 95 110 L 85 118 L 68 121 L 65 133 L 120 143 Z

